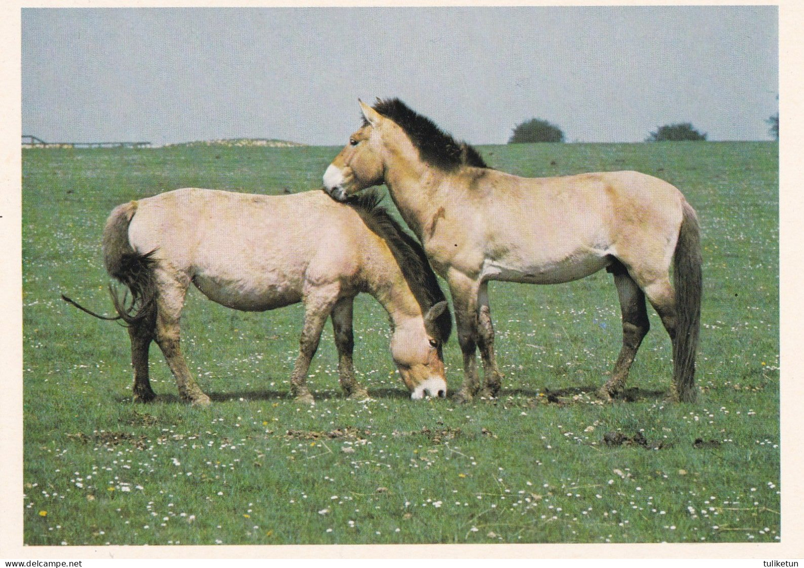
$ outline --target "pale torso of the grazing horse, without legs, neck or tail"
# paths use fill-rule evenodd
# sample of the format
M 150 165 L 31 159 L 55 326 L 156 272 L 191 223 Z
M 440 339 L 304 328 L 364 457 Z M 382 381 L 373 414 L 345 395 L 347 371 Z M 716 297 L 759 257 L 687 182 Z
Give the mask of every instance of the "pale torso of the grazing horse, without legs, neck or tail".
M 263 196 L 183 188 L 139 200 L 129 240 L 215 302 L 260 311 L 354 270 L 345 206 L 320 191 Z M 351 212 L 354 214 L 354 212 Z M 355 214 L 356 217 L 356 214 Z

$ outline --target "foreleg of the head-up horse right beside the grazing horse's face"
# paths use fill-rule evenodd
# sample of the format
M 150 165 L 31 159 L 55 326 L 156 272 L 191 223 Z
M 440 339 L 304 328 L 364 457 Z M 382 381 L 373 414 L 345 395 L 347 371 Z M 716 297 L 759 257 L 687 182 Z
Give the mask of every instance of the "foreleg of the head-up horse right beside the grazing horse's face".
M 475 351 L 478 345 L 478 288 L 466 275 L 451 271 L 447 275 L 453 297 L 457 341 L 463 354 L 463 385 L 455 393 L 456 402 L 468 402 L 480 390 Z

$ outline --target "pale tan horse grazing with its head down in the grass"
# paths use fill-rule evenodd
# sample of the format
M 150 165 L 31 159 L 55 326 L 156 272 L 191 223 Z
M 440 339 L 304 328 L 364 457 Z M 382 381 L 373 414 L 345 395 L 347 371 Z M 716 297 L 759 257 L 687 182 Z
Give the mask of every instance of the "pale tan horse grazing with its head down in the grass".
M 128 324 L 134 400 L 156 396 L 148 379 L 148 349 L 156 340 L 180 397 L 210 403 L 179 348 L 179 316 L 191 284 L 241 311 L 304 302 L 291 392 L 310 404 L 307 371 L 329 315 L 341 386 L 347 395 L 368 397 L 352 362 L 353 300 L 367 292 L 391 318 L 392 357 L 411 397 L 445 397 L 441 345 L 452 326 L 449 307 L 420 245 L 378 203 L 369 195 L 338 204 L 320 190 L 256 196 L 187 188 L 115 208 L 104 229 L 104 261 L 132 300 L 113 293 L 118 316 L 105 319 Z

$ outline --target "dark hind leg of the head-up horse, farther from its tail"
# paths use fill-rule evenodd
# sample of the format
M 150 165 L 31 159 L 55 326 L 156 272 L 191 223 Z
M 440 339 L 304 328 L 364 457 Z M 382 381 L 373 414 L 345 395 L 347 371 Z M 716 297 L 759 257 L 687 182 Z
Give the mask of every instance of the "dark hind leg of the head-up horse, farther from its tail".
M 628 372 L 634 363 L 639 345 L 650 329 L 645 294 L 624 267 L 620 265 L 612 271 L 622 311 L 622 348 L 614 364 L 611 378 L 598 391 L 598 395 L 605 400 L 611 400 L 611 397 L 626 385 Z

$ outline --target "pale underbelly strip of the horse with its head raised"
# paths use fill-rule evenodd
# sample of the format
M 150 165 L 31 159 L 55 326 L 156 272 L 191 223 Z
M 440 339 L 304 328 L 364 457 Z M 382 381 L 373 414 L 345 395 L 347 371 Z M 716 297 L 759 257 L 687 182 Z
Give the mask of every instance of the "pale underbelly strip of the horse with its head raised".
M 539 264 L 486 261 L 483 263 L 482 279 L 523 284 L 560 284 L 585 278 L 609 263 L 609 259 L 602 255 L 567 257 Z

